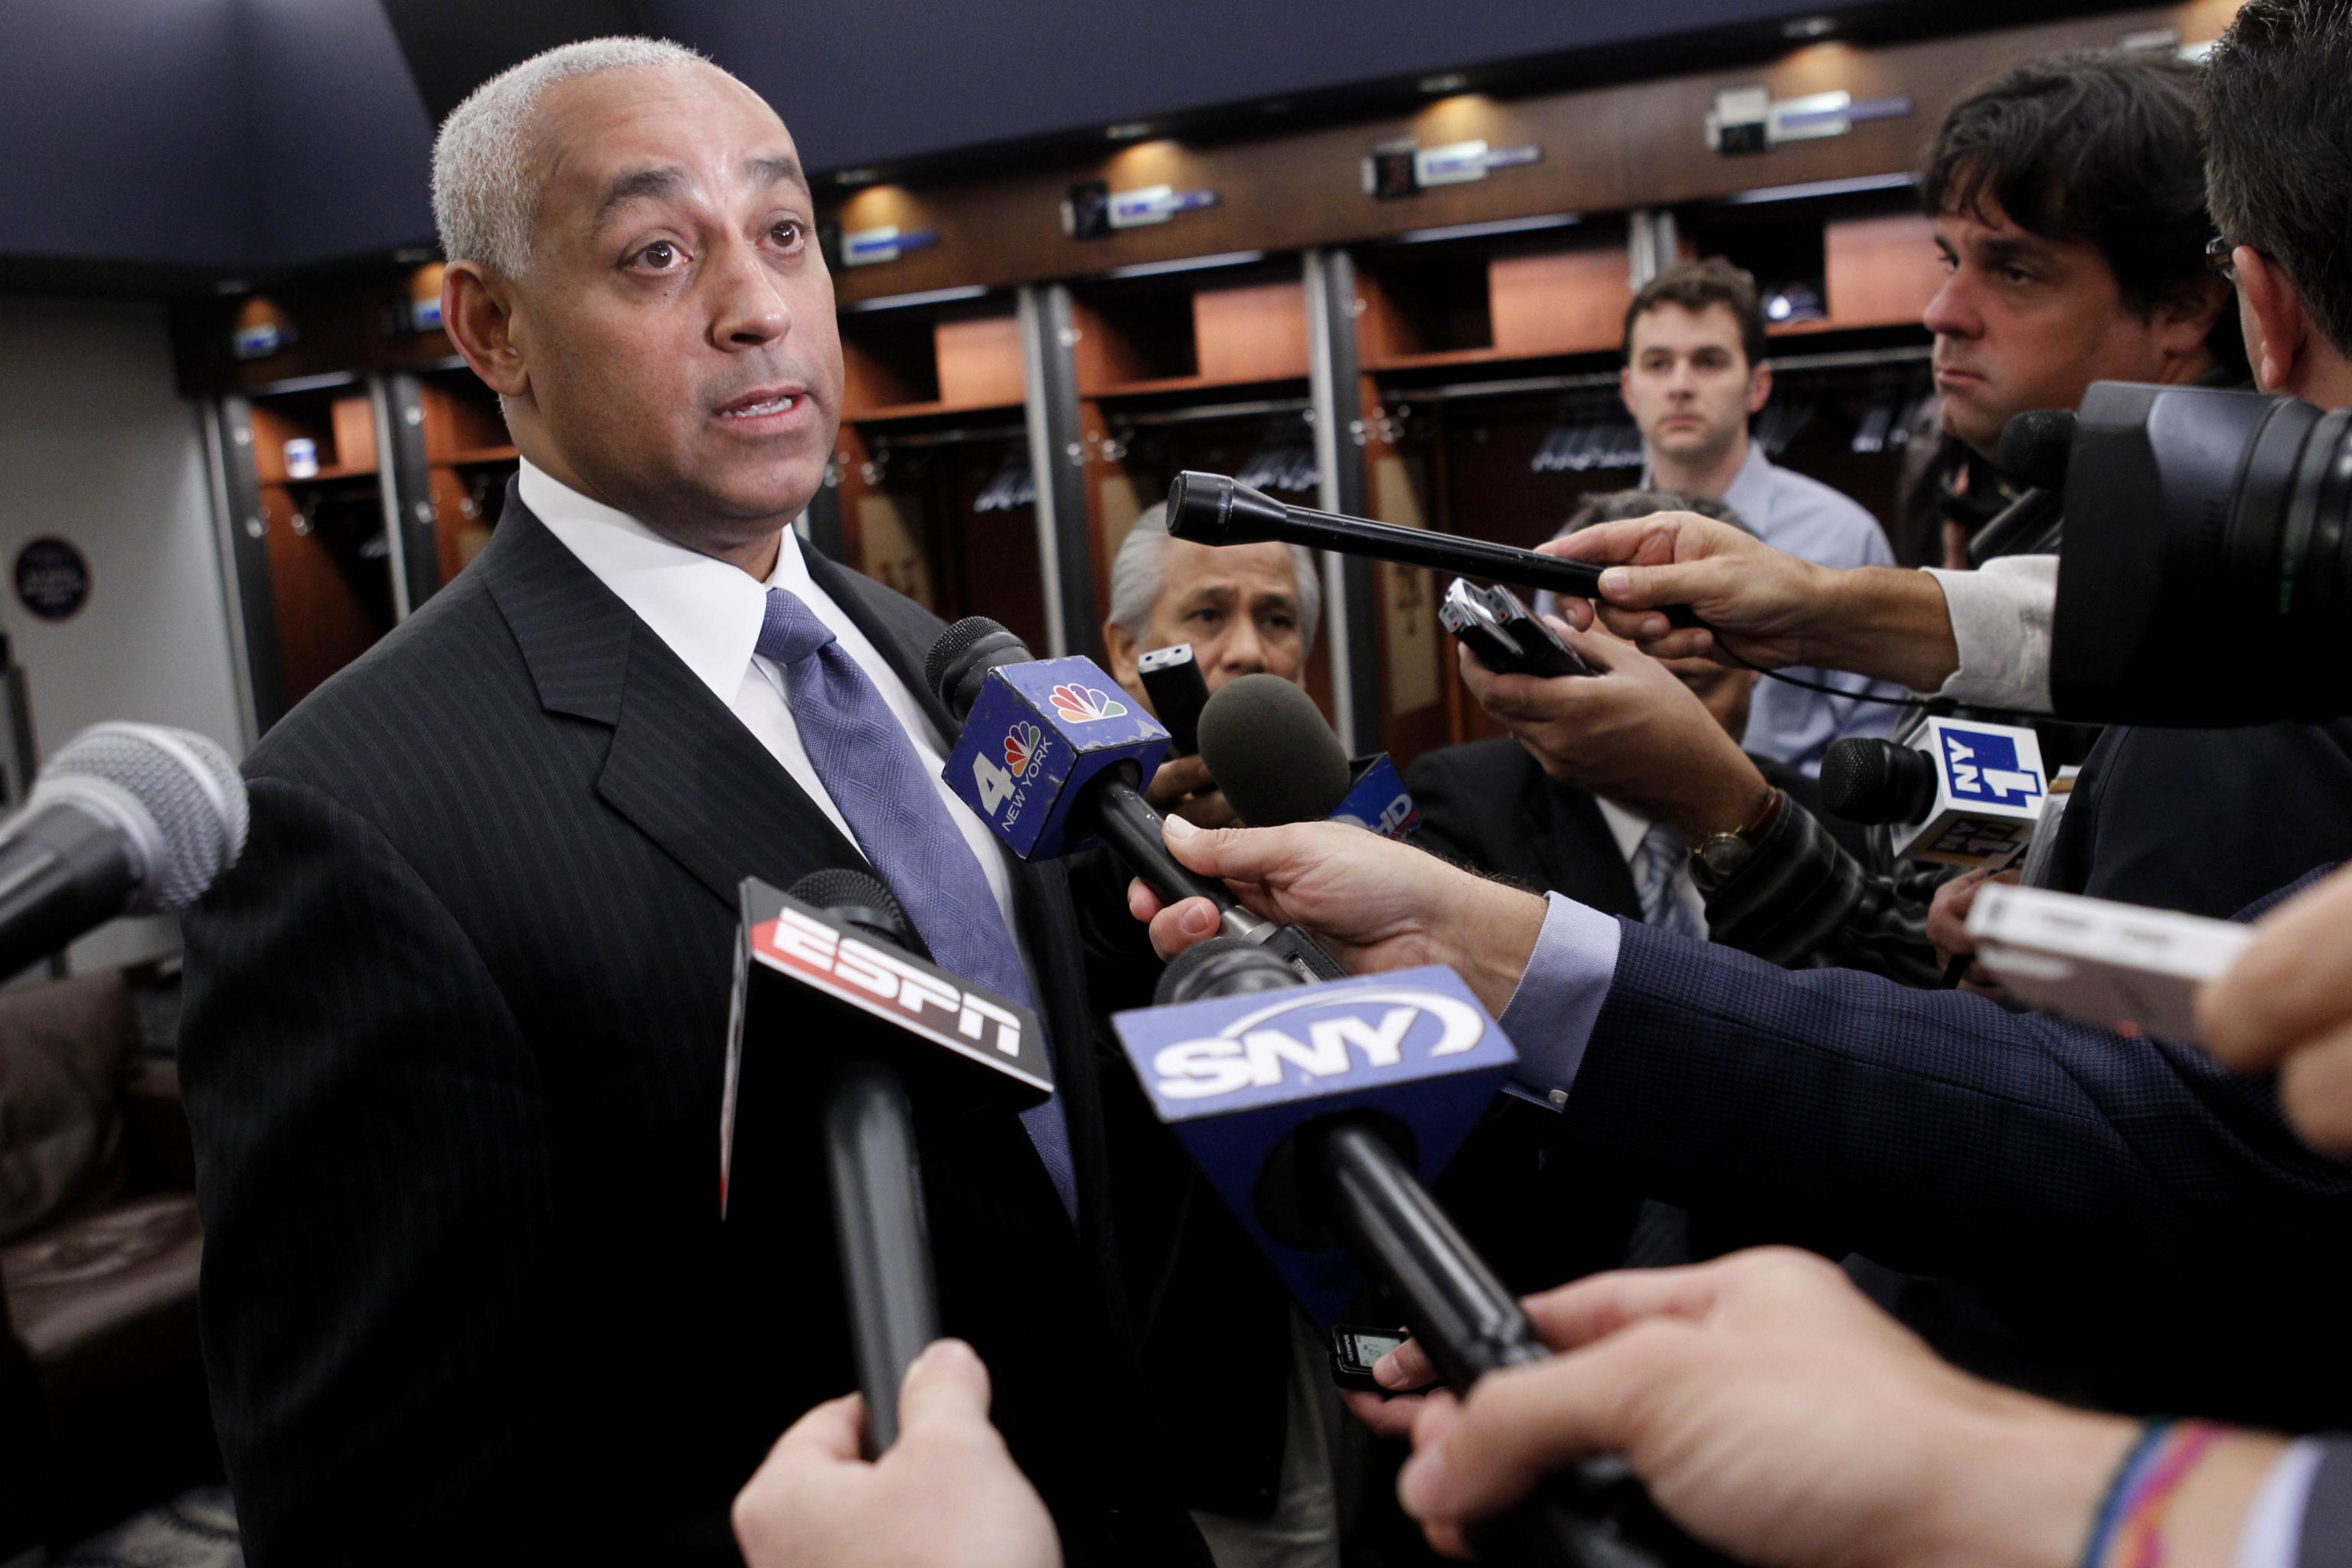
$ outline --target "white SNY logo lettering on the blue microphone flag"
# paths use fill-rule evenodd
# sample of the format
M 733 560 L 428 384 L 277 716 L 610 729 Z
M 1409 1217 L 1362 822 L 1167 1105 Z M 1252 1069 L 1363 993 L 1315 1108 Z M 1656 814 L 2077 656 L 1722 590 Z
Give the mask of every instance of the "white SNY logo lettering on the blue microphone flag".
M 1303 1084 L 1317 1084 L 1458 1056 L 1484 1034 L 1484 1013 L 1456 997 L 1350 987 L 1338 997 L 1289 997 L 1235 1018 L 1207 1039 L 1162 1046 L 1152 1053 L 1152 1077 L 1169 1100 L 1211 1100 L 1275 1088 L 1291 1072 Z

